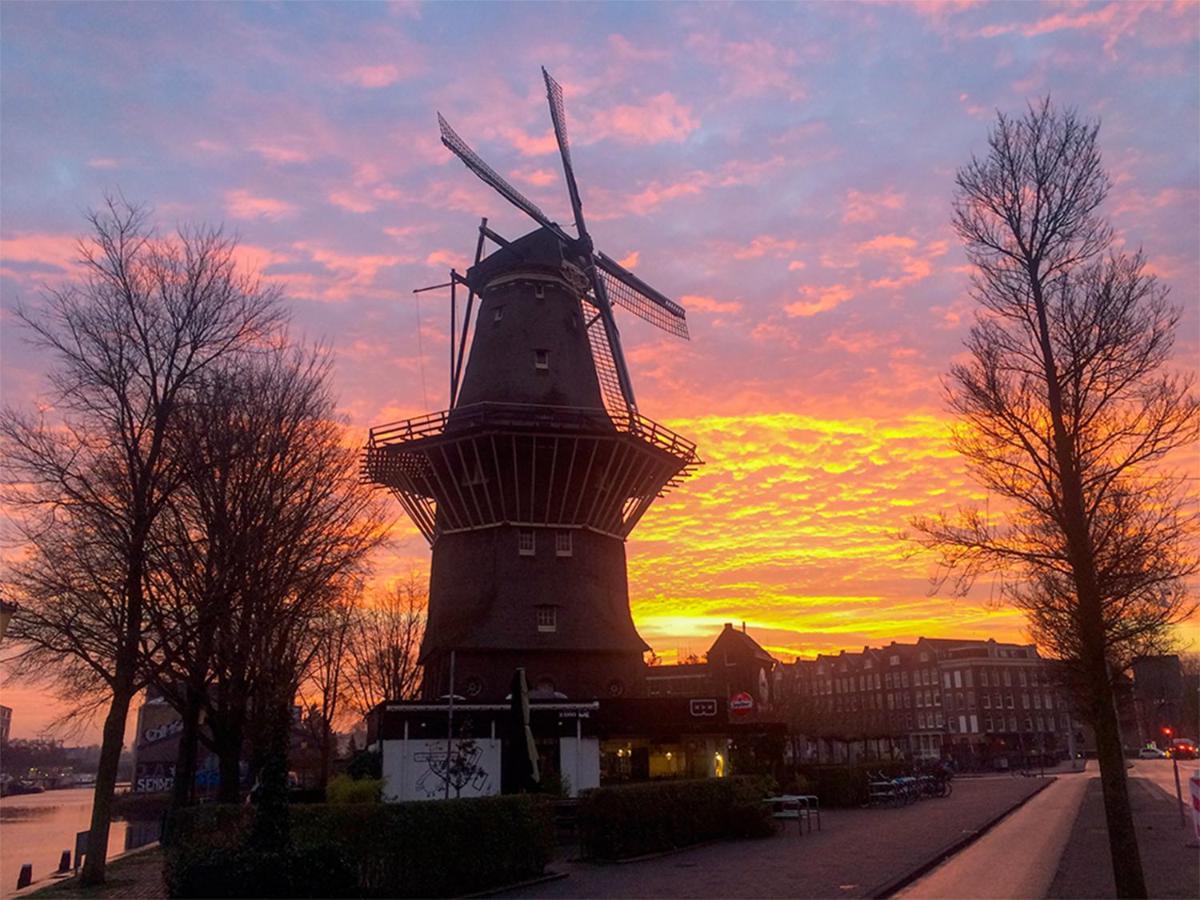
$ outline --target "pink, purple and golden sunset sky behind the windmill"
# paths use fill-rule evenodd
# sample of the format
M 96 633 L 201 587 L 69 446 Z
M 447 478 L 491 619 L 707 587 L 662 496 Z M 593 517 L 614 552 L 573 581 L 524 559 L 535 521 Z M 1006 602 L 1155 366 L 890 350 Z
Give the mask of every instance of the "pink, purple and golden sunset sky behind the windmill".
M 1102 120 L 1106 212 L 1184 308 L 1200 358 L 1200 4 L 5 4 L 2 398 L 43 360 L 11 310 L 70 277 L 120 191 L 167 228 L 224 222 L 325 341 L 354 439 L 443 408 L 448 296 L 480 216 L 530 228 L 438 140 L 436 113 L 570 221 L 539 66 L 563 84 L 596 245 L 688 310 L 683 343 L 618 313 L 641 410 L 707 464 L 628 545 L 667 658 L 743 622 L 784 659 L 1022 636 L 932 594 L 899 534 L 986 503 L 947 446 L 940 376 L 971 322 L 954 172 L 996 109 Z M 401 517 L 382 583 L 427 568 Z M 5 688 L 13 733 L 53 708 Z

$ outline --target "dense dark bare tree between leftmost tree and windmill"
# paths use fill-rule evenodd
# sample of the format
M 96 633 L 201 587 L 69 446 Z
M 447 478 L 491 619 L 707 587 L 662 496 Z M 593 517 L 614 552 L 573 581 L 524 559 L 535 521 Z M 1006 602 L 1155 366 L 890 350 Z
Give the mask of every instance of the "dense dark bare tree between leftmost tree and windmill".
M 286 778 L 292 704 L 383 538 L 328 373 L 323 353 L 264 350 L 215 370 L 180 415 L 160 677 L 173 702 L 204 710 L 224 802 L 247 744 L 256 772 Z

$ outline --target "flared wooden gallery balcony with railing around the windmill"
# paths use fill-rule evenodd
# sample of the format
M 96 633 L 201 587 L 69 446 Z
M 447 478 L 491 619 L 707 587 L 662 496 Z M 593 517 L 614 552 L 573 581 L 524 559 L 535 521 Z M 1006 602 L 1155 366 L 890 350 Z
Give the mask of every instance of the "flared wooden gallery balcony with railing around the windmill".
M 430 544 L 500 524 L 624 539 L 700 464 L 692 442 L 642 415 L 474 403 L 372 428 L 362 476 L 390 488 Z

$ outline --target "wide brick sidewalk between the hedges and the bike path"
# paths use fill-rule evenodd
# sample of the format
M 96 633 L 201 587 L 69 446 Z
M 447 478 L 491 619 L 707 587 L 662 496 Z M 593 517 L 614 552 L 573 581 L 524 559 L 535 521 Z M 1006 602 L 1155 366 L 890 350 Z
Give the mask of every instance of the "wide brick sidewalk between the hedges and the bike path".
M 559 863 L 556 868 L 565 866 L 569 877 L 510 896 L 872 896 L 1044 784 L 1014 776 L 961 780 L 948 799 L 900 809 L 828 810 L 824 829 L 803 836 L 790 823 L 766 840 L 721 841 L 640 863 Z

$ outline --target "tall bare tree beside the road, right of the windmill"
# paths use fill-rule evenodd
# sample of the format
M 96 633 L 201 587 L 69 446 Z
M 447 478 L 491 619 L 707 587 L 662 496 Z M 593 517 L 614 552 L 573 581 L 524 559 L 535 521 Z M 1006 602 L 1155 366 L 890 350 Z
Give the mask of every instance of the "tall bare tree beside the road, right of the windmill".
M 980 310 L 950 370 L 954 445 L 1001 500 L 918 520 L 942 578 L 998 574 L 1066 664 L 1096 730 L 1120 896 L 1145 896 L 1114 679 L 1195 610 L 1172 452 L 1196 438 L 1193 379 L 1170 371 L 1178 312 L 1140 253 L 1112 251 L 1099 126 L 1049 98 L 1000 115 L 958 173 L 954 226 Z

